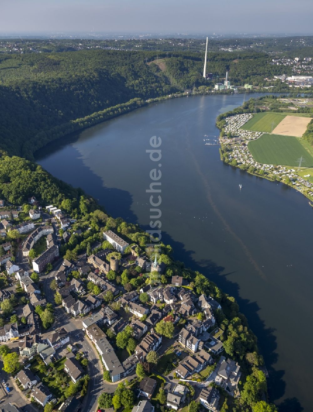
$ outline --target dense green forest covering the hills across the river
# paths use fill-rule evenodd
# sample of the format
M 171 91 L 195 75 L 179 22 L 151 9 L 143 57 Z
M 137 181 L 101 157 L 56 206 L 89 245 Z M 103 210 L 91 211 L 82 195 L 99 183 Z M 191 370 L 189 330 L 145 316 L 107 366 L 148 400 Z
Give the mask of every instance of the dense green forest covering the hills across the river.
M 162 60 L 161 60 L 162 59 Z M 279 74 L 261 53 L 210 53 L 202 77 L 199 53 L 83 50 L 0 54 L 0 148 L 33 159 L 49 141 L 133 110 L 149 98 L 214 82 L 229 70 L 232 84 L 263 85 Z M 154 63 L 151 63 L 151 62 Z M 163 66 L 159 62 L 163 62 Z M 157 63 L 157 64 L 155 64 Z

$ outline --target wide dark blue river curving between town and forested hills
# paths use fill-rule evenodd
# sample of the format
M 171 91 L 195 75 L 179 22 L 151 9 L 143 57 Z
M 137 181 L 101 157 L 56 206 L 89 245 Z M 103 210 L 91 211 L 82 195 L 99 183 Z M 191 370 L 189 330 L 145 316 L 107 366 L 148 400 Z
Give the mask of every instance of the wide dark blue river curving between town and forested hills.
M 154 103 L 50 144 L 37 162 L 112 216 L 147 229 L 156 162 L 146 150 L 160 136 L 162 240 L 236 298 L 280 410 L 310 411 L 313 210 L 290 187 L 225 165 L 219 147 L 203 141 L 219 134 L 217 115 L 242 101 L 215 95 Z

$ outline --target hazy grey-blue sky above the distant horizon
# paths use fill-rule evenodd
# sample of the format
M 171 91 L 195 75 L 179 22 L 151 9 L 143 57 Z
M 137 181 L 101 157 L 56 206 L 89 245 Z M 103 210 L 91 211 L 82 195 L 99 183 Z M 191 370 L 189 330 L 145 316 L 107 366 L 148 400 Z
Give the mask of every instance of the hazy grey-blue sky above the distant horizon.
M 313 0 L 0 0 L 0 33 L 312 33 Z

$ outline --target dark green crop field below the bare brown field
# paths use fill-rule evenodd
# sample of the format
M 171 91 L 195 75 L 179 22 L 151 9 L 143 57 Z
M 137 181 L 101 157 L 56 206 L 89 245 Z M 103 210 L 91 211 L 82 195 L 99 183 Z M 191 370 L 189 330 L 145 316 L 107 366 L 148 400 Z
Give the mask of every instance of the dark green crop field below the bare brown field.
M 299 166 L 303 156 L 302 167 L 313 167 L 313 157 L 293 136 L 264 133 L 248 143 L 251 155 L 258 163 L 280 164 L 282 166 Z

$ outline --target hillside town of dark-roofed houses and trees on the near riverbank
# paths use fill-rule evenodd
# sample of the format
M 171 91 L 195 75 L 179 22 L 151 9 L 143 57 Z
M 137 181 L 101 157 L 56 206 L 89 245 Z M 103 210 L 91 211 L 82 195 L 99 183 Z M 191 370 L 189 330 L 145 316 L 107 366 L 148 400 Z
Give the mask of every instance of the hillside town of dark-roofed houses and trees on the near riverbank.
M 35 197 L 1 206 L 2 402 L 133 412 L 222 411 L 241 402 L 248 389 L 225 330 L 238 307 L 203 275 L 175 274 L 168 256 L 108 229 L 114 220 L 101 211 L 88 222 Z M 102 242 L 96 218 L 106 221 Z M 73 249 L 79 241 L 87 253 Z M 261 365 L 245 333 L 249 362 Z M 265 369 L 256 371 L 265 379 Z

